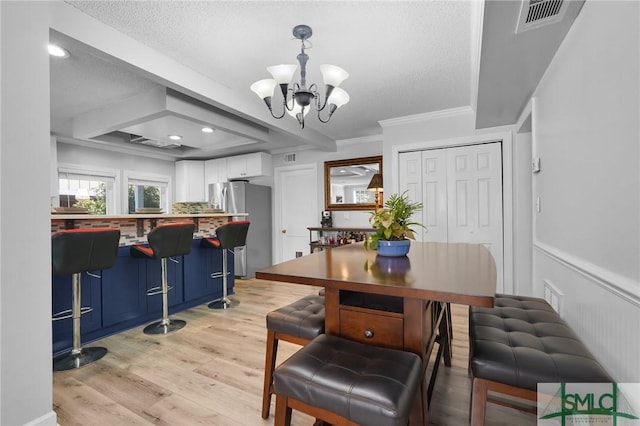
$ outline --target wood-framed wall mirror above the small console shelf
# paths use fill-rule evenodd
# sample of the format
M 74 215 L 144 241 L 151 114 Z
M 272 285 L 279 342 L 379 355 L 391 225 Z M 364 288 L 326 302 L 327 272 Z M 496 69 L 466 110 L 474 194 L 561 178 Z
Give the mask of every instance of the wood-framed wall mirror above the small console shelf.
M 325 210 L 374 210 L 376 193 L 367 187 L 376 173 L 382 174 L 381 155 L 325 161 Z

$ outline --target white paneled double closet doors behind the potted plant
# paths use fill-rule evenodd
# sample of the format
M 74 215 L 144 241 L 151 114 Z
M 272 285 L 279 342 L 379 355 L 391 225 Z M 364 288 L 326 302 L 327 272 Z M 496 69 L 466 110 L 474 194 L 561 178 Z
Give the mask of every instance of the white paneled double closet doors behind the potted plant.
M 415 219 L 427 230 L 416 239 L 483 244 L 503 288 L 501 143 L 403 152 L 398 159 L 400 192 L 423 203 Z

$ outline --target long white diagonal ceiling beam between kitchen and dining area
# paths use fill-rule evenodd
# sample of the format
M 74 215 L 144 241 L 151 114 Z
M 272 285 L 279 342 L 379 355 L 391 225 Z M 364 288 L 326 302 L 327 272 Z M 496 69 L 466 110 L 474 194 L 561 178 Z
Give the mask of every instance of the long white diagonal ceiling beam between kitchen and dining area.
M 185 93 L 231 114 L 291 134 L 301 143 L 323 151 L 337 151 L 335 140 L 313 130 L 301 130 L 295 120 L 272 120 L 251 93 L 238 94 L 185 65 L 149 48 L 64 2 L 51 4 L 50 28 L 96 49 L 97 55 L 121 61 L 150 80 Z M 247 90 L 247 92 L 249 92 Z M 250 99 L 250 101 L 249 101 Z

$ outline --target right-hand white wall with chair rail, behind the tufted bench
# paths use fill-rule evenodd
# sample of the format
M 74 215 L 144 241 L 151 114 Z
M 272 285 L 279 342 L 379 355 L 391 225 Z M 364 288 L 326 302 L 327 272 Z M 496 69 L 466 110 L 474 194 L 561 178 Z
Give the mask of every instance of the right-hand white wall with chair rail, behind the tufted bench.
M 534 293 L 620 382 L 640 382 L 640 3 L 585 3 L 535 92 Z

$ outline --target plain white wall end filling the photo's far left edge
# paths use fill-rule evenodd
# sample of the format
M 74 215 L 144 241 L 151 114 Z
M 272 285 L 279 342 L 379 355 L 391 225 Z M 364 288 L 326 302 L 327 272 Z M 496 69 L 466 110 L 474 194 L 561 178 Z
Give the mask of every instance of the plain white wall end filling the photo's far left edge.
M 48 2 L 0 2 L 0 424 L 55 425 Z

